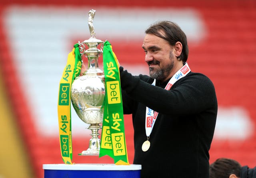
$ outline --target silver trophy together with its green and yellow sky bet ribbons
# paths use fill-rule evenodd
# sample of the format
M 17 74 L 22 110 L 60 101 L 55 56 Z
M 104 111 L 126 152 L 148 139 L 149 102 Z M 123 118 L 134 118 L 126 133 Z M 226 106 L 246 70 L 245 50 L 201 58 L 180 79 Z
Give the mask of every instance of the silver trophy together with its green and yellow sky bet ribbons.
M 89 148 L 78 155 L 108 155 L 115 164 L 129 165 L 122 108 L 119 64 L 111 44 L 96 39 L 93 26 L 95 10 L 89 11 L 88 26 L 91 37 L 78 42 L 70 54 L 60 80 L 58 121 L 60 150 L 65 164 L 72 164 L 72 134 L 70 103 L 78 117 L 89 124 L 92 131 Z M 85 46 L 88 49 L 85 50 Z M 98 67 L 98 57 L 103 53 L 104 74 Z M 79 76 L 81 55 L 88 58 L 88 68 Z M 71 102 L 70 102 L 71 100 Z M 102 124 L 102 126 L 100 126 Z M 102 128 L 101 142 L 98 130 Z

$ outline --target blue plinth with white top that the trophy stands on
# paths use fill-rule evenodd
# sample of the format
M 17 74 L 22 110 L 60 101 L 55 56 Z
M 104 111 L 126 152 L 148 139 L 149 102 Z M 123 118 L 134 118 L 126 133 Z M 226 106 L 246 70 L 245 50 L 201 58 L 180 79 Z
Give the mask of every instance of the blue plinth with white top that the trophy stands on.
M 43 164 L 44 178 L 140 178 L 141 165 Z

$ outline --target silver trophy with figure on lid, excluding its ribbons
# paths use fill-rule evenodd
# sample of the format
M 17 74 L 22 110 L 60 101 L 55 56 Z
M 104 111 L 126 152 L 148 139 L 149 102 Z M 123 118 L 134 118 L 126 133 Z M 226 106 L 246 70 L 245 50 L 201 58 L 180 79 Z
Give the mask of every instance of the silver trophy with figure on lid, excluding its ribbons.
M 98 58 L 102 55 L 102 48 L 97 46 L 102 44 L 96 39 L 94 26 L 92 24 L 95 10 L 89 11 L 88 26 L 91 37 L 84 42 L 79 42 L 80 53 L 88 58 L 88 68 L 82 76 L 75 78 L 71 86 L 71 101 L 76 114 L 86 124 L 90 124 L 88 129 L 92 131 L 92 138 L 89 148 L 78 155 L 98 155 L 100 151 L 100 139 L 98 130 L 102 128 L 105 97 L 104 74 L 98 67 Z M 86 49 L 86 46 L 88 48 Z M 103 79 L 103 80 L 102 80 Z

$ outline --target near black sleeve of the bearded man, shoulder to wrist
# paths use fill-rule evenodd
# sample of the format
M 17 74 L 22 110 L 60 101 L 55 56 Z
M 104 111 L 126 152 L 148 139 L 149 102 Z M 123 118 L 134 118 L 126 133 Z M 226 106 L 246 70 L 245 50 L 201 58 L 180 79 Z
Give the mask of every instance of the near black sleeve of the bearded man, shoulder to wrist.
M 126 94 L 167 115 L 197 114 L 216 104 L 215 89 L 209 78 L 193 73 L 178 80 L 170 90 L 153 86 L 141 76 L 132 76 L 120 67 L 121 87 Z

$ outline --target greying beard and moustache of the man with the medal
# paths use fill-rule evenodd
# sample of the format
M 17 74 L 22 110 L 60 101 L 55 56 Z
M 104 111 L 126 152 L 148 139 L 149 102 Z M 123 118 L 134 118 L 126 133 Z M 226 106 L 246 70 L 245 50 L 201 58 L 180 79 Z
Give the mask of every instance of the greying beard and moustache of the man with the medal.
M 164 66 L 164 68 L 162 68 L 162 69 L 160 68 L 160 69 L 154 71 L 154 68 L 149 68 L 149 76 L 151 78 L 155 78 L 156 80 L 160 80 L 160 81 L 164 80 L 170 74 L 170 71 L 172 70 L 172 68 L 174 66 L 172 52 L 170 52 L 170 61 L 171 61 L 171 63 Z M 148 62 L 148 64 L 159 64 L 159 62 L 153 60 L 153 61 Z

